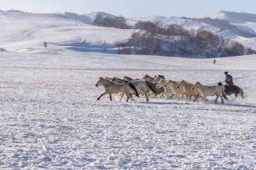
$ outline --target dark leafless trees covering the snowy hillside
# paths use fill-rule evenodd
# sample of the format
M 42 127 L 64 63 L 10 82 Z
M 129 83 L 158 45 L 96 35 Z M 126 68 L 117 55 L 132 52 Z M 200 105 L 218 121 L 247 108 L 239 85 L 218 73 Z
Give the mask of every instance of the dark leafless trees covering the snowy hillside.
M 97 14 L 95 25 L 128 29 L 125 18 L 103 18 Z M 185 30 L 182 26 L 139 21 L 128 42 L 117 43 L 119 54 L 164 55 L 174 57 L 229 57 L 256 54 L 235 40 L 224 39 L 206 30 Z

